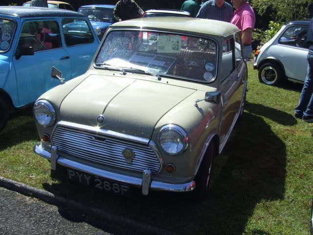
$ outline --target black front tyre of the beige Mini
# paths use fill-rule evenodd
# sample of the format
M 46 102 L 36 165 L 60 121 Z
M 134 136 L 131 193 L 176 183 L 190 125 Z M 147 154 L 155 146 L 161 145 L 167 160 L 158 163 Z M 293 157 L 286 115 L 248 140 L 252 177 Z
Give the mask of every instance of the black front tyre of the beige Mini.
M 195 177 L 196 188 L 192 191 L 193 197 L 195 199 L 203 200 L 208 194 L 211 176 L 212 176 L 212 167 L 215 153 L 214 144 L 210 144 L 206 153 L 202 159 L 201 165 Z

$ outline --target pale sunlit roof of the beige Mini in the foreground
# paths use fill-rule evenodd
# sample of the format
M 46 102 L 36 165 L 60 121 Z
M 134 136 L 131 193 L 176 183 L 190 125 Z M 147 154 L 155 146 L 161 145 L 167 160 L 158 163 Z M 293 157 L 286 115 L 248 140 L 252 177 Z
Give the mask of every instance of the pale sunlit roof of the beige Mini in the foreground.
M 220 37 L 240 31 L 236 25 L 227 22 L 190 17 L 138 18 L 112 24 L 110 28 L 142 28 Z

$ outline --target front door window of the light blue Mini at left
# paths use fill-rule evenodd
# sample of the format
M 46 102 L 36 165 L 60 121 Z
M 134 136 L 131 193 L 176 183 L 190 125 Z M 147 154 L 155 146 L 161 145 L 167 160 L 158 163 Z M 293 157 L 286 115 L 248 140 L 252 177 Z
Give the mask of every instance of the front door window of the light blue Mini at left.
M 18 47 L 33 47 L 35 52 L 62 47 L 59 24 L 56 21 L 25 22 Z

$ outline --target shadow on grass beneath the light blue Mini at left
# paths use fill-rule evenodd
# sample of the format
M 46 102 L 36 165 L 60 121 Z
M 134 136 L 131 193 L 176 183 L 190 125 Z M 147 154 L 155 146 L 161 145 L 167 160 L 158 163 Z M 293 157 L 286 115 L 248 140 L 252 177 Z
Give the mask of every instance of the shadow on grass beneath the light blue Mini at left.
M 32 108 L 14 114 L 0 132 L 0 151 L 23 141 L 38 140 Z

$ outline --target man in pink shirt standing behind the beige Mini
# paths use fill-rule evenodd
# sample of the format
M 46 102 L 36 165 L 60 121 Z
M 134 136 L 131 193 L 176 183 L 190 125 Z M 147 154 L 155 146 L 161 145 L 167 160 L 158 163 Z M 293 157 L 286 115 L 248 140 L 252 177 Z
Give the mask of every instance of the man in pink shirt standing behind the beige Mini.
M 252 31 L 255 24 L 255 14 L 246 0 L 231 0 L 236 9 L 231 24 L 235 24 L 241 30 L 241 43 L 244 46 L 244 58 L 247 61 L 251 52 Z

